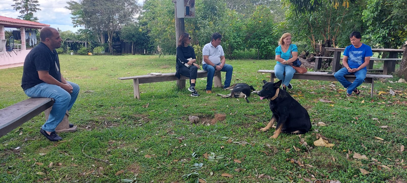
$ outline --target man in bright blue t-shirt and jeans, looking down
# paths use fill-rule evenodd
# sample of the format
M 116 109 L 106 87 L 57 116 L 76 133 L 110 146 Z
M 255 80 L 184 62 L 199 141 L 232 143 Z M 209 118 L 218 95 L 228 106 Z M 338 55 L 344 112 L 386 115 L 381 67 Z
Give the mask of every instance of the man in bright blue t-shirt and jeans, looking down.
M 335 78 L 345 87 L 346 97 L 350 97 L 352 92 L 356 95 L 360 94 L 357 88 L 366 78 L 366 66 L 369 65 L 370 57 L 373 55 L 372 48 L 360 42 L 362 36 L 360 32 L 352 32 L 349 36 L 350 43 L 345 48 L 344 58 L 342 59 L 342 69 L 335 73 Z M 345 75 L 355 75 L 354 82 L 349 82 L 345 79 Z

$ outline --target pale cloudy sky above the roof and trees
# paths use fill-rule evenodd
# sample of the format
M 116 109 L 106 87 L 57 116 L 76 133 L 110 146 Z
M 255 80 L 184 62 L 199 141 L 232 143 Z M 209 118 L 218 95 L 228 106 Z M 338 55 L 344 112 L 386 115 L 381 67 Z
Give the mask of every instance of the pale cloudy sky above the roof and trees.
M 81 27 L 73 27 L 71 12 L 64 8 L 68 6 L 66 4 L 70 0 L 38 0 L 38 8 L 41 9 L 34 13 L 34 16 L 38 18 L 38 22 L 43 24 L 49 24 L 53 28 L 59 28 L 62 31 L 71 30 L 77 32 Z M 80 0 L 74 0 L 79 2 Z M 21 14 L 15 11 L 11 5 L 14 2 L 12 0 L 0 0 L 0 15 L 4 17 L 18 18 Z M 138 4 L 143 4 L 143 0 L 138 0 Z M 12 28 L 4 28 L 5 30 L 15 30 Z

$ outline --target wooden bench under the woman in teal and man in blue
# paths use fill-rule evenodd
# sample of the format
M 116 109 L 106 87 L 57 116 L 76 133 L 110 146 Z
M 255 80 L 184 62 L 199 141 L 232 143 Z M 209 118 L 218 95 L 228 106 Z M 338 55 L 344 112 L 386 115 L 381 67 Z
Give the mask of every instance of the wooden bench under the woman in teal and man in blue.
M 274 70 L 258 70 L 259 73 L 270 73 L 270 81 L 274 82 L 274 78 L 277 78 L 274 74 Z M 306 73 L 294 73 L 293 79 L 298 80 L 321 80 L 321 81 L 337 81 L 336 78 L 333 76 L 334 74 L 328 74 L 327 72 L 311 72 L 308 71 Z M 355 80 L 354 75 L 346 75 L 350 82 Z M 375 78 L 393 78 L 392 75 L 383 75 L 383 74 L 366 74 L 365 81 L 363 83 L 370 83 L 372 87 L 370 89 L 370 97 L 373 97 L 373 86 L 374 86 L 374 79 Z

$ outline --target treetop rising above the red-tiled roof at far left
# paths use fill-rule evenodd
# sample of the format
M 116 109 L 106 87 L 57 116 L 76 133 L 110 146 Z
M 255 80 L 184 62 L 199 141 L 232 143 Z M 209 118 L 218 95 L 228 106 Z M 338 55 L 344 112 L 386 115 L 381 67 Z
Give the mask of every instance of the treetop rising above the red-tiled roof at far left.
M 18 16 L 19 18 L 33 22 L 38 21 L 38 18 L 34 17 L 34 13 L 41 10 L 37 8 L 39 6 L 37 0 L 13 0 L 13 2 L 14 4 L 11 5 L 13 9 L 22 14 Z

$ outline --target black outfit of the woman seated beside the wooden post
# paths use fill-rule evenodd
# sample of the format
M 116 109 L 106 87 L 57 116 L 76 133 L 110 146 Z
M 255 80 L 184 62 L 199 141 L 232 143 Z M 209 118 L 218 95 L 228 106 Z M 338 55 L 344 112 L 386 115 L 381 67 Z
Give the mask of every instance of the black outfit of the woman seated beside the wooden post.
M 197 59 L 193 47 L 189 45 L 187 47 L 178 46 L 176 60 L 177 65 L 175 66 L 175 70 L 177 72 L 175 73 L 175 76 L 177 76 L 179 79 L 181 75 L 184 75 L 189 78 L 189 83 L 191 83 L 191 80 L 197 79 L 198 68 L 195 65 L 191 65 L 189 68 L 186 67 L 184 63 L 189 62 L 189 60 L 186 60 L 187 58 Z

